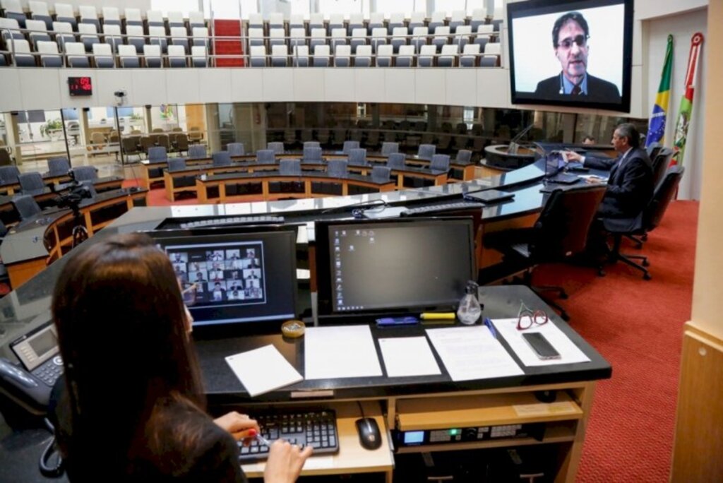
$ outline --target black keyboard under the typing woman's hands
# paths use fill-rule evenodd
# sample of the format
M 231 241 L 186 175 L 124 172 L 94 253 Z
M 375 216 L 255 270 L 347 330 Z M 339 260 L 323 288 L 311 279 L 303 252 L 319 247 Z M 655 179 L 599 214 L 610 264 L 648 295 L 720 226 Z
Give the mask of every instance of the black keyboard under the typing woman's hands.
M 261 435 L 270 443 L 275 440 L 287 440 L 292 445 L 311 446 L 314 454 L 339 452 L 339 432 L 336 428 L 336 413 L 331 409 L 324 411 L 304 411 L 288 413 L 254 414 L 259 423 Z M 269 448 L 259 440 L 244 446 L 239 441 L 241 464 L 268 458 Z

